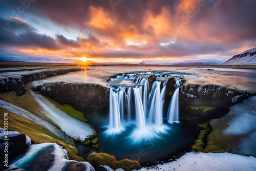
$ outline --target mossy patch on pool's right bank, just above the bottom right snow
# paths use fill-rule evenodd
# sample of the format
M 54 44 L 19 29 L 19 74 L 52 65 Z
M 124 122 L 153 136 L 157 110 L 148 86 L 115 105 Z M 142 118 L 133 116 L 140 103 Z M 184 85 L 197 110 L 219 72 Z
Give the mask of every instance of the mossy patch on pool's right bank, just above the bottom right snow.
M 194 152 L 202 152 L 204 150 L 203 139 L 211 131 L 209 122 L 198 124 L 198 126 L 201 127 L 203 130 L 200 131 L 199 136 L 194 141 L 194 145 L 192 145 L 191 147 L 191 151 L 194 151 Z

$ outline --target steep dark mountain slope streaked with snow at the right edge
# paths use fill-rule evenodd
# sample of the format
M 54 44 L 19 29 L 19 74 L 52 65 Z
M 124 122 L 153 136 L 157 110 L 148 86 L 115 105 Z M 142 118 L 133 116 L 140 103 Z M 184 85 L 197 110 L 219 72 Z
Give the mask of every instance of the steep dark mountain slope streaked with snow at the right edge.
M 256 48 L 234 55 L 222 65 L 256 65 Z

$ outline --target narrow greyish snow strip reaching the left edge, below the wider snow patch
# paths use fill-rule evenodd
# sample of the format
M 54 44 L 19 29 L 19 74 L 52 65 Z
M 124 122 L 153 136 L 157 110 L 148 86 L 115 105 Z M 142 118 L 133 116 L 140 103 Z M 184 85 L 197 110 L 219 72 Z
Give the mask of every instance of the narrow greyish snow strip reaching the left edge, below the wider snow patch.
M 31 120 L 32 122 L 35 122 L 36 124 L 45 126 L 50 132 L 52 132 L 57 137 L 67 141 L 67 142 L 74 142 L 72 138 L 68 137 L 67 135 L 63 134 L 61 131 L 59 131 L 55 126 L 53 126 L 51 123 L 45 121 L 44 119 L 39 118 L 38 116 L 19 108 L 19 106 L 16 106 L 8 101 L 5 101 L 3 99 L 0 99 L 0 108 L 10 111 L 16 115 L 22 116 L 24 118 L 27 118 Z

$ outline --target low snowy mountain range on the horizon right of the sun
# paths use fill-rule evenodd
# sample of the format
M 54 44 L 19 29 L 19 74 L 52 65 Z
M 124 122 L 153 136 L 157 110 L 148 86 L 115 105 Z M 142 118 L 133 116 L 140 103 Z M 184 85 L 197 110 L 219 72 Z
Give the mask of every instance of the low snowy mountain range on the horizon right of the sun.
M 219 59 L 198 59 L 198 60 L 184 60 L 181 62 L 157 62 L 155 60 L 143 60 L 139 65 L 180 65 L 180 66 L 201 66 L 201 65 L 220 65 L 226 60 Z

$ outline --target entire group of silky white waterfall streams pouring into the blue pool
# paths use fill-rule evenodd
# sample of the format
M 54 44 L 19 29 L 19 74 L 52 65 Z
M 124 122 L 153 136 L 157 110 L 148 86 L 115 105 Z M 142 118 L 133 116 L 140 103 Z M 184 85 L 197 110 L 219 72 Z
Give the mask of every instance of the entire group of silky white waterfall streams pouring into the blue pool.
M 122 77 L 124 78 L 124 74 Z M 166 74 L 159 75 L 167 77 Z M 120 76 L 121 77 L 121 76 Z M 119 77 L 119 78 L 120 78 Z M 152 129 L 160 130 L 163 125 L 166 81 L 154 81 L 150 90 L 147 78 L 137 75 L 127 75 L 134 82 L 140 84 L 136 87 L 119 86 L 110 89 L 110 129 L 120 133 L 124 124 L 134 122 L 139 131 Z M 179 81 L 177 81 L 177 84 Z M 180 86 L 178 84 L 178 86 Z M 167 120 L 170 123 L 179 120 L 179 93 L 174 92 L 169 104 Z M 132 123 L 131 122 L 131 123 Z M 116 130 L 116 131 L 113 131 Z

